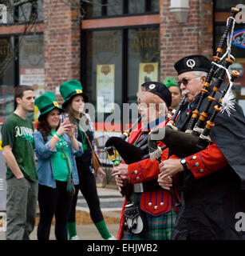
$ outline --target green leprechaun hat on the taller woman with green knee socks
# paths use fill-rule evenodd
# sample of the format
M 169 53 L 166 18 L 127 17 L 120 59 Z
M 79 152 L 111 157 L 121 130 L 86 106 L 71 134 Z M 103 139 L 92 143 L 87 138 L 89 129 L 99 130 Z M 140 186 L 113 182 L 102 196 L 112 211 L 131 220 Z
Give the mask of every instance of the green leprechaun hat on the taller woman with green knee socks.
M 64 98 L 64 102 L 62 107 L 65 109 L 69 100 L 73 98 L 73 96 L 81 94 L 84 98 L 85 102 L 89 101 L 88 96 L 82 91 L 81 82 L 77 80 L 70 80 L 67 82 L 63 82 L 60 86 L 61 96 Z

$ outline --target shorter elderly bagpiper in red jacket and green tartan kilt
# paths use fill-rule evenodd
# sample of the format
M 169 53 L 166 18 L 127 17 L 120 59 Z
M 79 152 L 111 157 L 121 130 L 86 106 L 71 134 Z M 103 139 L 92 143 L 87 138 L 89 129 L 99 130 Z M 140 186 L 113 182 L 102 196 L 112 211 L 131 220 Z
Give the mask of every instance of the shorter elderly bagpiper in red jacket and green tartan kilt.
M 140 89 L 141 123 L 132 130 L 128 143 L 142 150 L 145 148 L 145 154 L 148 154 L 148 147 L 145 147 L 148 132 L 154 126 L 165 126 L 172 97 L 168 88 L 160 82 L 145 82 Z M 162 142 L 158 145 L 164 146 Z M 128 151 L 131 156 L 136 155 L 134 150 L 121 150 Z M 165 151 L 162 160 L 167 159 L 167 156 L 168 152 Z M 124 161 L 126 162 L 125 159 Z M 176 219 L 176 202 L 170 191 L 162 189 L 157 184 L 159 173 L 159 162 L 151 162 L 149 158 L 113 167 L 113 176 L 120 190 L 123 188 L 123 181 L 129 182 L 129 193 L 121 213 L 117 239 L 170 239 Z

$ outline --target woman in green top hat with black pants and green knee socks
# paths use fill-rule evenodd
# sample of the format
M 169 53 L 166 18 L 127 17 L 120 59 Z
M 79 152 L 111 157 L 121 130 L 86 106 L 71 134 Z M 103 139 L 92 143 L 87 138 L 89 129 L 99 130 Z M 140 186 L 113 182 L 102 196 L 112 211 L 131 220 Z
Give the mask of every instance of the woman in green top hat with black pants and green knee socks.
M 67 113 L 69 122 L 75 125 L 75 134 L 79 142 L 82 142 L 85 153 L 81 157 L 76 158 L 77 171 L 79 175 L 79 186 L 76 186 L 76 193 L 73 196 L 73 205 L 69 214 L 69 222 L 67 225 L 69 231 L 69 239 L 79 240 L 76 231 L 76 205 L 77 205 L 77 194 L 81 190 L 88 205 L 90 216 L 100 232 L 103 239 L 115 239 L 105 225 L 103 215 L 101 213 L 100 201 L 97 195 L 96 181 L 93 175 L 92 166 L 92 150 L 90 149 L 89 141 L 95 149 L 95 138 L 93 122 L 89 114 L 83 112 L 85 102 L 88 102 L 87 95 L 83 92 L 81 83 L 77 80 L 71 80 L 64 82 L 60 87 L 61 96 L 64 98 L 62 107 Z M 85 134 L 86 133 L 86 134 Z M 101 174 L 105 177 L 105 172 L 99 167 L 96 174 Z

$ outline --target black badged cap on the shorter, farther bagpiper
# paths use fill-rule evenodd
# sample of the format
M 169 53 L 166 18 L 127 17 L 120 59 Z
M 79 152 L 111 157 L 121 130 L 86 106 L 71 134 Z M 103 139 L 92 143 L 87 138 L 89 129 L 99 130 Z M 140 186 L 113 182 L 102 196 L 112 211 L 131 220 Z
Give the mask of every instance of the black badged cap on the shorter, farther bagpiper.
M 161 99 L 164 100 L 166 105 L 169 107 L 172 103 L 172 94 L 168 90 L 167 86 L 165 86 L 161 82 L 144 82 L 141 87 L 144 87 L 144 90 L 151 92 L 152 94 L 156 94 Z

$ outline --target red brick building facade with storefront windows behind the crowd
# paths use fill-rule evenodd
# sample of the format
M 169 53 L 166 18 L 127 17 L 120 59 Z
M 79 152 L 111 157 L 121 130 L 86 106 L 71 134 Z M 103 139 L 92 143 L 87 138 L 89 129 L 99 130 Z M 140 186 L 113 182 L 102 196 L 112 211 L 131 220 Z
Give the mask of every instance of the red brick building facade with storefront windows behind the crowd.
M 211 58 L 231 9 L 227 0 L 188 0 L 188 19 L 179 23 L 169 10 L 171 0 L 124 0 L 115 5 L 107 0 L 108 6 L 85 6 L 87 13 L 83 18 L 77 0 L 39 2 L 41 18 L 27 29 L 23 42 L 28 45 L 29 40 L 30 46 L 37 44 L 42 52 L 35 52 L 33 47 L 30 53 L 23 43 L 23 49 L 0 78 L 3 102 L 0 112 L 4 112 L 9 87 L 14 88 L 31 79 L 35 81 L 35 89 L 40 89 L 39 94 L 53 90 L 59 102 L 62 100 L 58 90 L 61 83 L 81 80 L 90 101 L 97 106 L 99 66 L 113 69 L 111 100 L 120 106 L 123 102 L 136 102 L 136 92 L 144 73 L 140 70 L 141 64 L 152 64 L 154 79 L 163 81 L 166 76 L 176 77 L 173 64 L 186 55 L 204 54 Z M 232 5 L 238 3 L 235 0 Z M 244 23 L 239 24 L 238 29 L 245 30 Z M 23 22 L 1 24 L 0 63 L 4 57 L 1 56 L 3 49 L 10 44 L 16 46 L 23 30 Z M 38 41 L 33 40 L 35 37 Z M 235 47 L 235 57 L 240 68 L 245 68 L 245 50 Z M 32 73 L 34 71 L 39 72 L 38 75 Z M 40 83 L 35 79 L 37 77 Z M 242 86 L 245 86 L 244 76 L 237 90 L 238 97 L 244 102 Z M 6 87 L 8 93 L 4 92 Z M 7 114 L 6 111 L 0 114 L 0 121 Z

